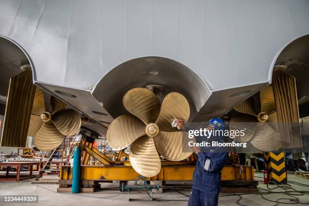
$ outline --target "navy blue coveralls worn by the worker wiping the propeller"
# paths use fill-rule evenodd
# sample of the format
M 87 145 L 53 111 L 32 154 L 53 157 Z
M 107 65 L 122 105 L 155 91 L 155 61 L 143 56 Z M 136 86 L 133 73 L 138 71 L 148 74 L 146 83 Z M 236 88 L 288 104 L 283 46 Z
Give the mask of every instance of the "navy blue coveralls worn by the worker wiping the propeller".
M 216 151 L 217 150 L 217 151 Z M 188 206 L 218 205 L 218 195 L 221 191 L 221 170 L 226 164 L 227 153 L 210 149 L 208 152 L 198 152 L 193 173 L 193 185 Z M 208 170 L 204 169 L 208 161 Z

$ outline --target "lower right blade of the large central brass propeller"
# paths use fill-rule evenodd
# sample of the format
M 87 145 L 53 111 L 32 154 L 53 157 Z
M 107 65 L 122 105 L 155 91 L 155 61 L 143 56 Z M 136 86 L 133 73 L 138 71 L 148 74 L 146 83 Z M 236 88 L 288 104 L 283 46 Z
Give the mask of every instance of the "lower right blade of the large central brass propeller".
M 168 160 L 181 161 L 190 157 L 193 153 L 188 143 L 189 141 L 194 141 L 194 138 L 189 139 L 186 132 L 161 131 L 154 139 L 158 152 Z

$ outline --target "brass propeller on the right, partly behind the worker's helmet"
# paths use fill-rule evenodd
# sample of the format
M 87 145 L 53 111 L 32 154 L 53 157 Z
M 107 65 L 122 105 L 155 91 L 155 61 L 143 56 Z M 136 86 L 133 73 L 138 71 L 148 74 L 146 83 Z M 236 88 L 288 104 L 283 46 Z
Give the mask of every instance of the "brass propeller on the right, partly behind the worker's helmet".
M 254 99 L 249 98 L 241 102 L 235 110 L 242 113 L 233 117 L 230 121 L 230 129 L 245 130 L 244 136 L 235 137 L 239 142 L 250 143 L 262 150 L 272 151 L 281 147 L 276 104 L 272 85 L 260 91 L 261 111 L 254 110 Z

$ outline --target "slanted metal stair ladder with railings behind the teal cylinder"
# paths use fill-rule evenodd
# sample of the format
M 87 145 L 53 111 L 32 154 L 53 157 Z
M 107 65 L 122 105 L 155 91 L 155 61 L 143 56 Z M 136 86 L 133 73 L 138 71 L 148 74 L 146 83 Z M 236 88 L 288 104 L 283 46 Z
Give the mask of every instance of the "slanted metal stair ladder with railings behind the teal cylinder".
M 59 173 L 62 166 L 68 165 L 69 160 L 75 148 L 73 144 L 78 140 L 79 135 L 66 136 L 64 141 L 48 155 L 47 161 L 44 163 L 41 172 Z M 43 157 L 47 152 L 43 153 Z

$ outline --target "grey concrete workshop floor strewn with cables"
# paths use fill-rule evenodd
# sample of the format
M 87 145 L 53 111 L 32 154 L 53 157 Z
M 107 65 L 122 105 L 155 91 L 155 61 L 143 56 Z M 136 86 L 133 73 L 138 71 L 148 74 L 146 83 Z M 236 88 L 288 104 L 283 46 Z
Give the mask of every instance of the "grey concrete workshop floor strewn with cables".
M 255 176 L 262 177 L 262 173 L 255 173 Z M 302 177 L 297 177 L 294 174 L 289 174 L 288 179 L 290 181 L 301 182 L 303 184 L 309 184 L 309 179 Z M 256 180 L 263 180 L 262 178 L 256 178 Z M 103 199 L 100 197 L 112 196 L 119 194 L 118 182 L 115 183 L 103 183 L 101 187 L 104 188 L 99 192 L 95 193 L 80 193 L 77 195 L 72 195 L 69 193 L 57 193 L 58 185 L 46 185 L 40 184 L 44 188 L 32 185 L 31 180 L 21 181 L 19 183 L 0 183 L 0 195 L 39 195 L 39 203 L 23 203 L 22 205 L 187 205 L 186 201 L 151 201 L 147 194 L 143 191 L 141 193 L 130 192 L 130 198 L 135 199 L 134 201 L 127 200 L 127 193 L 118 195 L 116 197 Z M 263 182 L 259 183 L 259 188 L 267 188 Z M 309 191 L 309 187 L 292 185 L 293 188 L 297 190 Z M 51 190 L 51 191 L 50 191 Z M 190 194 L 190 189 L 182 189 L 183 193 Z M 274 191 L 282 191 L 282 189 L 276 189 Z M 85 197 L 91 196 L 91 197 Z M 96 197 L 96 198 L 93 198 Z M 165 191 L 162 194 L 153 194 L 154 198 L 158 199 L 170 199 L 170 200 L 187 200 L 188 198 L 182 194 L 173 191 Z M 268 194 L 265 195 L 268 199 L 278 199 L 278 198 L 288 198 L 289 196 L 284 194 Z M 298 196 L 301 202 L 309 202 L 309 195 Z M 239 196 L 225 196 L 219 197 L 219 205 L 239 205 L 236 201 Z M 261 195 L 250 194 L 243 195 L 240 203 L 243 205 L 275 205 L 274 202 L 269 202 L 264 200 Z M 16 203 L 0 205 L 18 205 Z M 287 204 L 279 204 L 287 205 Z M 304 204 L 294 204 L 294 205 L 304 205 Z

